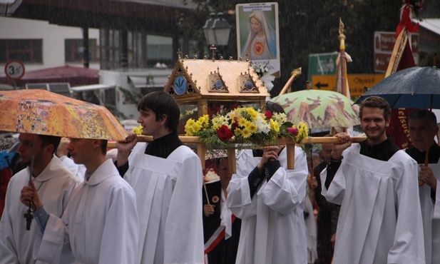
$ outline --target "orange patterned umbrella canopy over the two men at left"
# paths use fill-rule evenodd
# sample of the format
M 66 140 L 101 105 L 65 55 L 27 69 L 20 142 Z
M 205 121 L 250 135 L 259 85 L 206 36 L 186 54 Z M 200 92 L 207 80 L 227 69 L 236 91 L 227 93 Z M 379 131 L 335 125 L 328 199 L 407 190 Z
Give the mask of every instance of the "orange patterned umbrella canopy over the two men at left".
M 123 141 L 107 108 L 46 90 L 0 91 L 0 131 Z

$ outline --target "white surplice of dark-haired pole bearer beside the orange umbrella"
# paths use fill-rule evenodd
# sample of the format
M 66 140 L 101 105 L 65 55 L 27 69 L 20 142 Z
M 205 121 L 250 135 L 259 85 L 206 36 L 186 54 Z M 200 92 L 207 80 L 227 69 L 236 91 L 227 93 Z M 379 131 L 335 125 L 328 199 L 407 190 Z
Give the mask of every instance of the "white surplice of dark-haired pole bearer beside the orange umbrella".
M 168 158 L 145 154 L 137 143 L 124 178 L 136 193 L 139 246 L 135 263 L 203 263 L 200 159 L 188 146 Z

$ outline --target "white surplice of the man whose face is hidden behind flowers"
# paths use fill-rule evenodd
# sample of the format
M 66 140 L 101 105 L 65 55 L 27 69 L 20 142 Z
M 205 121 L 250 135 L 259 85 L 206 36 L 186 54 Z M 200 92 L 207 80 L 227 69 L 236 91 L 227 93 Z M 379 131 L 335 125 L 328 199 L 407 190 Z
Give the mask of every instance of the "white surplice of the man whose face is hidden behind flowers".
M 252 150 L 237 153 L 237 174 L 227 187 L 227 206 L 242 219 L 237 263 L 307 263 L 304 200 L 307 160 L 295 147 L 295 169 L 287 170 L 287 151 L 279 156 L 281 167 L 264 180 L 250 198 L 247 176 L 260 163 Z M 313 217 L 311 215 L 310 217 Z

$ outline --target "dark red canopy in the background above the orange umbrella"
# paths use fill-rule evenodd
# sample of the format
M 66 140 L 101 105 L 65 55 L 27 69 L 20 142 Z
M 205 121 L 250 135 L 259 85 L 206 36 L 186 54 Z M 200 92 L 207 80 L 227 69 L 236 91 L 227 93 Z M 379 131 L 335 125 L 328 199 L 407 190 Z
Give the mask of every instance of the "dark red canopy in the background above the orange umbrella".
M 16 81 L 18 86 L 26 83 L 70 83 L 71 86 L 83 86 L 99 83 L 99 70 L 74 66 L 59 66 L 41 70 L 26 71 L 24 76 Z M 3 77 L 0 83 L 13 84 L 14 81 Z

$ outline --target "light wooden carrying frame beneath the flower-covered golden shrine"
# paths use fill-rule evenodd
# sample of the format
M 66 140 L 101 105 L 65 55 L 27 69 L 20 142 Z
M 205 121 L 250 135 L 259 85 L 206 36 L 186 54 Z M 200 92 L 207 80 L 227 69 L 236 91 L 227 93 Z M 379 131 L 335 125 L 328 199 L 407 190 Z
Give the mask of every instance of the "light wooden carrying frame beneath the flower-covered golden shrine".
M 202 168 L 205 168 L 205 155 L 206 148 L 205 145 L 199 143 L 198 136 L 179 136 L 180 140 L 185 144 L 197 144 L 197 155 L 202 163 Z M 352 142 L 359 143 L 366 139 L 365 136 L 353 136 Z M 151 142 L 153 141 L 152 136 L 138 136 L 138 142 Z M 295 143 L 291 138 L 277 138 L 279 145 L 285 145 L 287 147 L 287 168 L 292 170 L 295 168 Z M 331 137 L 319 137 L 319 138 L 306 138 L 302 143 L 305 144 L 319 144 L 319 143 L 338 143 L 338 139 L 334 136 Z M 231 144 L 231 148 L 227 148 L 227 156 L 235 157 L 235 147 Z M 108 142 L 108 148 L 116 148 L 116 142 Z M 237 172 L 237 166 L 235 164 L 235 158 L 228 159 L 229 168 L 232 173 Z

